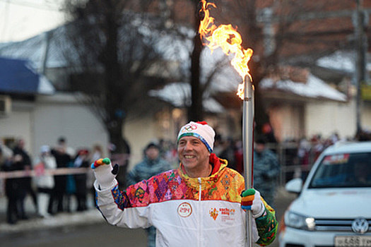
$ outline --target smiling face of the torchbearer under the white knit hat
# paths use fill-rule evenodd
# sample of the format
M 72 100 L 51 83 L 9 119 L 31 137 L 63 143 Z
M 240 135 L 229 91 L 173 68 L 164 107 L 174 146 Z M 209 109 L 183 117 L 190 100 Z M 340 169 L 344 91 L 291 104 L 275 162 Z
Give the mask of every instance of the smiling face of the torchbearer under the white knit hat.
M 199 138 L 184 136 L 178 143 L 178 157 L 186 171 L 201 170 L 208 167 L 210 153 Z

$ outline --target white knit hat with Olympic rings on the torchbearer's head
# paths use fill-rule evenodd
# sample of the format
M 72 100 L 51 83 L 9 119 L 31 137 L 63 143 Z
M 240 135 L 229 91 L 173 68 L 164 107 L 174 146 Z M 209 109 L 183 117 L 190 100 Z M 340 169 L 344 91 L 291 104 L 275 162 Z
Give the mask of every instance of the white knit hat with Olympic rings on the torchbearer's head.
M 194 136 L 199 138 L 201 142 L 206 145 L 208 152 L 213 152 L 215 131 L 211 126 L 208 126 L 206 121 L 190 121 L 180 128 L 178 142 L 183 136 Z

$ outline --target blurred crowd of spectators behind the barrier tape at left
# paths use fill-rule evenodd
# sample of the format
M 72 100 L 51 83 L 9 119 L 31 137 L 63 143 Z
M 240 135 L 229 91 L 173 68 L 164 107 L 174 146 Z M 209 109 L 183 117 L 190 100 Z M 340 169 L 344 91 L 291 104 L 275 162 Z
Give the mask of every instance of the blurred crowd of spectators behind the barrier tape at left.
M 61 137 L 54 146 L 42 145 L 37 157 L 32 159 L 24 146 L 21 138 L 13 147 L 0 145 L 0 169 L 10 171 L 3 184 L 6 222 L 16 224 L 29 219 L 25 210 L 28 195 L 37 217 L 87 210 L 88 194 L 93 191 L 93 174 L 88 167 L 94 159 L 102 157 L 102 147 L 73 150 Z M 71 172 L 71 169 L 76 170 Z

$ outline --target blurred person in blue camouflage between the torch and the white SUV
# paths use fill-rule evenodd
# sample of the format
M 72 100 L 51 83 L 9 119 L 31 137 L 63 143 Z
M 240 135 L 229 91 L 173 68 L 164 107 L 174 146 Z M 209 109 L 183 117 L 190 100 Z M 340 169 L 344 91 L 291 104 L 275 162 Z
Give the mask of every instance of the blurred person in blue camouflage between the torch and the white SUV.
M 259 136 L 254 148 L 254 187 L 257 188 L 269 205 L 274 205 L 277 177 L 280 166 L 276 154 L 266 147 L 266 138 Z

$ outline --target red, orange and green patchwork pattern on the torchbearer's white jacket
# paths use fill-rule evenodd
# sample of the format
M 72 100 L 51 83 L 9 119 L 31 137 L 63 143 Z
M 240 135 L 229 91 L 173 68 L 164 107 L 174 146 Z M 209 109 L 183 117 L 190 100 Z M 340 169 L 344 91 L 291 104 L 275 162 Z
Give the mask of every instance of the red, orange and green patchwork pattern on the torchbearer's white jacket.
M 225 200 L 240 203 L 240 194 L 245 188 L 243 177 L 235 170 L 227 167 L 224 159 L 212 160 L 218 171 L 211 176 L 201 178 L 201 200 Z M 165 171 L 162 174 L 143 180 L 119 191 L 118 185 L 112 189 L 114 202 L 119 209 L 128 207 L 146 207 L 151 203 L 161 203 L 168 200 L 199 200 L 200 182 L 185 174 L 182 164 L 179 169 Z M 274 210 L 266 204 L 264 215 L 256 219 L 259 240 L 257 243 L 266 246 L 271 243 L 278 229 Z

